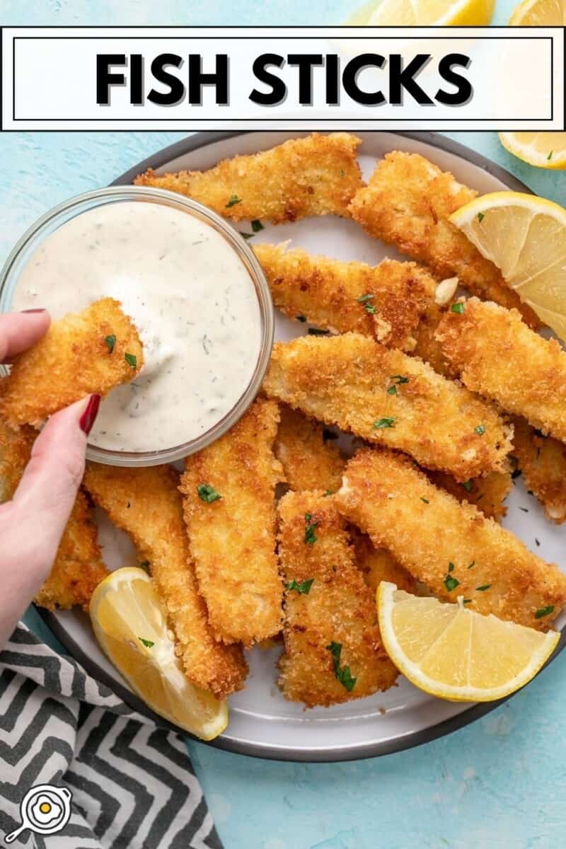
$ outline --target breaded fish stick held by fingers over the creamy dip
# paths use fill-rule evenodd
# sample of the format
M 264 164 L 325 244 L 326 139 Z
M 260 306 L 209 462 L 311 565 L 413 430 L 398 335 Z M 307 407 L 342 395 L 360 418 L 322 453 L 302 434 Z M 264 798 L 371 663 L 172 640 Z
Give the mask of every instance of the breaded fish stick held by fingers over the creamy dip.
M 42 339 L 14 358 L 0 389 L 0 416 L 13 427 L 37 426 L 93 392 L 107 395 L 133 380 L 142 366 L 136 328 L 119 301 L 102 298 L 54 321 Z

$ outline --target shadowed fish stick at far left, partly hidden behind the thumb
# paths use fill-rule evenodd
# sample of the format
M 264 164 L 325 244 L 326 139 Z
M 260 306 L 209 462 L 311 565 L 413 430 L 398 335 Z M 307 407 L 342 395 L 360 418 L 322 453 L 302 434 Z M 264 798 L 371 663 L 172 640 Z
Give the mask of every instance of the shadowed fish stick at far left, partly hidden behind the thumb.
M 12 430 L 0 421 L 0 502 L 13 498 L 36 436 L 31 427 Z M 48 610 L 68 610 L 76 604 L 87 608 L 94 589 L 107 575 L 92 510 L 79 490 L 51 572 L 34 601 Z

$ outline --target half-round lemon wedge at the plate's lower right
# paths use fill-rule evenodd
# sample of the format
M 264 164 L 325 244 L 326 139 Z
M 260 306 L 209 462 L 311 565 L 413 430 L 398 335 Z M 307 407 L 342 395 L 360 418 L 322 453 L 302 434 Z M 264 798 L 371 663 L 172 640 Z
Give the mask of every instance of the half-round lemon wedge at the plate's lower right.
M 560 634 L 482 616 L 463 599 L 441 604 L 381 582 L 379 629 L 395 666 L 419 689 L 451 701 L 502 699 L 534 678 Z

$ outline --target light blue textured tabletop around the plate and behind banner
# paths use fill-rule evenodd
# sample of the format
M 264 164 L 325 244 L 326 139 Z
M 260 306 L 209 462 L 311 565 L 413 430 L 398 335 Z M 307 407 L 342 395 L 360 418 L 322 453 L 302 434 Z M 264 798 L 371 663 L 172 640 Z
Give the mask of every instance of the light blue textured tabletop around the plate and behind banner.
M 33 8 L 31 6 L 33 5 Z M 498 0 L 505 24 L 513 0 Z M 3 25 L 336 24 L 339 0 L 2 0 Z M 496 84 L 496 81 L 494 81 Z M 564 172 L 536 171 L 495 133 L 449 133 L 566 204 Z M 43 211 L 109 183 L 181 133 L 0 136 L 0 260 Z M 30 612 L 27 621 L 48 637 Z M 261 762 L 189 744 L 227 849 L 550 849 L 563 846 L 566 652 L 506 705 L 456 734 L 364 762 Z M 561 833 L 562 832 L 562 833 Z

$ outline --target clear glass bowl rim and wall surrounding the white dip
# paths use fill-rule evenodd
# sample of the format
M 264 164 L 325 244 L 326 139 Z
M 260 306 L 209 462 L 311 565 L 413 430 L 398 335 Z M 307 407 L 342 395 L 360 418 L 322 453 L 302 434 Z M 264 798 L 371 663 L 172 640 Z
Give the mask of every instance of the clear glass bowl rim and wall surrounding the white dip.
M 209 445 L 210 442 L 218 439 L 223 433 L 226 433 L 241 418 L 255 399 L 260 389 L 261 381 L 266 374 L 273 344 L 274 316 L 272 296 L 265 275 L 253 251 L 250 250 L 239 233 L 220 216 L 216 215 L 215 212 L 206 206 L 196 203 L 194 200 L 189 200 L 183 195 L 174 192 L 167 192 L 164 189 L 146 188 L 144 186 L 110 186 L 109 188 L 101 188 L 93 192 L 78 194 L 76 197 L 65 200 L 64 203 L 55 206 L 39 218 L 24 233 L 4 263 L 2 272 L 0 273 L 0 312 L 9 312 L 14 290 L 18 284 L 22 269 L 37 248 L 42 245 L 44 239 L 51 233 L 61 227 L 65 222 L 70 221 L 71 218 L 75 218 L 83 212 L 105 204 L 116 204 L 132 200 L 159 203 L 174 207 L 177 210 L 198 217 L 201 221 L 215 228 L 216 232 L 220 233 L 226 239 L 228 245 L 236 252 L 239 260 L 243 262 L 244 267 L 247 269 L 255 286 L 261 315 L 261 346 L 257 362 L 255 363 L 254 374 L 252 374 L 251 380 L 249 380 L 249 384 L 244 390 L 244 393 L 239 397 L 238 402 L 209 430 L 206 430 L 205 433 L 200 434 L 190 441 L 184 442 L 182 445 L 171 446 L 160 451 L 111 451 L 96 445 L 87 446 L 87 458 L 89 460 L 95 460 L 97 463 L 113 466 L 137 467 L 171 463 L 174 460 L 199 451 L 201 448 Z M 93 300 L 95 300 L 96 293 L 92 293 L 92 295 Z M 8 374 L 8 370 L 2 365 L 0 365 L 0 374 Z

